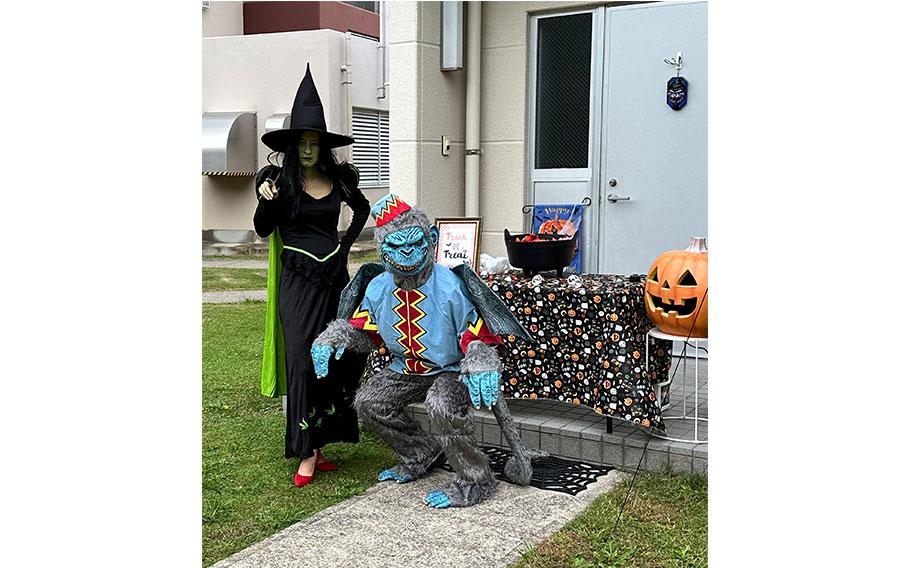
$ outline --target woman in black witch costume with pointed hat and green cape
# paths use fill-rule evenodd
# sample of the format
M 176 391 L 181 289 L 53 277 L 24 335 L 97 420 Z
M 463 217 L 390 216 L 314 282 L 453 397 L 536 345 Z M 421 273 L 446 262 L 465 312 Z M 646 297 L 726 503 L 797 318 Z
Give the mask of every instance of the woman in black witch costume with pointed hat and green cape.
M 346 354 L 328 380 L 317 381 L 310 347 L 335 318 L 349 281 L 348 252 L 366 223 L 370 204 L 357 188 L 357 169 L 335 160 L 331 149 L 354 139 L 327 130 L 309 65 L 297 90 L 290 128 L 267 132 L 262 142 L 284 159 L 280 167 L 260 170 L 255 182 L 259 205 L 253 225 L 259 236 L 269 237 L 261 386 L 266 396 L 287 395 L 284 455 L 301 460 L 294 475 L 300 487 L 312 481 L 316 471 L 337 469 L 319 453 L 325 444 L 359 440 L 353 400 L 365 357 Z M 327 191 L 324 195 L 320 185 Z M 339 241 L 342 202 L 354 215 Z M 304 462 L 312 466 L 314 456 L 318 459 L 307 475 Z

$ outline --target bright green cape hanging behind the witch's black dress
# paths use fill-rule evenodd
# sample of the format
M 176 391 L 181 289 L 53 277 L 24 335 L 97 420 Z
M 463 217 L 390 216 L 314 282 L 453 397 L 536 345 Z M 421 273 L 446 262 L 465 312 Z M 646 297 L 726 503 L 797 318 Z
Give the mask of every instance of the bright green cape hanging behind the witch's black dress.
M 262 394 L 279 397 L 288 392 L 284 360 L 284 331 L 278 317 L 278 284 L 281 282 L 281 251 L 284 245 L 276 228 L 269 237 L 269 282 L 265 303 L 265 341 L 262 345 Z

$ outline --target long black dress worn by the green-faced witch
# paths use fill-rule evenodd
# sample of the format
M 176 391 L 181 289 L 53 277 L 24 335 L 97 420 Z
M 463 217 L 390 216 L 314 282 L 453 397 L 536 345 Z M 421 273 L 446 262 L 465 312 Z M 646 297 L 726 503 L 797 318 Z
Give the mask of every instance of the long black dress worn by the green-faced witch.
M 256 176 L 257 188 L 266 177 L 277 177 L 268 169 Z M 356 176 L 346 176 L 344 183 L 334 180 L 332 191 L 321 199 L 302 192 L 295 205 L 287 194 L 288 189 L 279 186 L 276 199 L 260 199 L 253 225 L 261 237 L 277 228 L 285 247 L 278 289 L 287 363 L 284 455 L 303 459 L 325 444 L 359 440 L 353 403 L 366 357 L 346 352 L 341 360 L 332 359 L 327 377 L 317 379 L 310 348 L 335 319 L 341 290 L 350 279 L 348 252 L 366 223 L 370 204 L 357 188 Z M 342 201 L 354 217 L 339 242 Z

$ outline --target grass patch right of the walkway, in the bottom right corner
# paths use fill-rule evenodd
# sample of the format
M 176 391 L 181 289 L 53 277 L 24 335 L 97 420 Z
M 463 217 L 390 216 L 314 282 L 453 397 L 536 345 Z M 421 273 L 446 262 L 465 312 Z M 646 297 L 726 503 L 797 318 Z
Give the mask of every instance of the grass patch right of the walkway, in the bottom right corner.
M 629 481 L 595 500 L 516 568 L 706 567 L 708 480 L 697 475 L 639 473 L 612 541 Z

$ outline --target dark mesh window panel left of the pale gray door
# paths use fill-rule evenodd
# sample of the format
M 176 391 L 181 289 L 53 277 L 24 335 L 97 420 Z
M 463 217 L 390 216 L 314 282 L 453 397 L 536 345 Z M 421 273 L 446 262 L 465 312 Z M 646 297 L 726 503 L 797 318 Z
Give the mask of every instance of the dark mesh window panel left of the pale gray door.
M 592 14 L 537 21 L 534 167 L 588 167 Z

